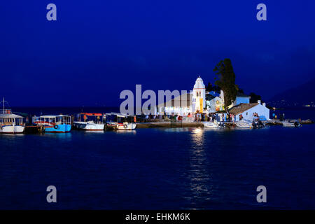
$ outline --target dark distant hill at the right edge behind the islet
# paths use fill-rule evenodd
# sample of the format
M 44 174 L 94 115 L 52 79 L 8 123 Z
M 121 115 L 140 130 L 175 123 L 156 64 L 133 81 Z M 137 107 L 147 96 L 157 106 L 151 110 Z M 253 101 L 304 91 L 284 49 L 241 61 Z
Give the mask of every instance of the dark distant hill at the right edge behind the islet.
M 270 106 L 303 106 L 315 104 L 315 78 L 303 85 L 276 94 L 269 101 Z

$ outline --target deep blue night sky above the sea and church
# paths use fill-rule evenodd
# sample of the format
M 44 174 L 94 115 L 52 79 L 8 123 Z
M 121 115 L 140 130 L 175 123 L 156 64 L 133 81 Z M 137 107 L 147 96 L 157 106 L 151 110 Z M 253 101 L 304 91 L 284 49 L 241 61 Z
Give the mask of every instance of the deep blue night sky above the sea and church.
M 57 21 L 46 20 L 55 3 Z M 258 3 L 267 21 L 256 20 Z M 122 90 L 191 90 L 232 59 L 268 99 L 315 76 L 315 1 L 3 1 L 0 97 L 11 106 L 118 106 Z

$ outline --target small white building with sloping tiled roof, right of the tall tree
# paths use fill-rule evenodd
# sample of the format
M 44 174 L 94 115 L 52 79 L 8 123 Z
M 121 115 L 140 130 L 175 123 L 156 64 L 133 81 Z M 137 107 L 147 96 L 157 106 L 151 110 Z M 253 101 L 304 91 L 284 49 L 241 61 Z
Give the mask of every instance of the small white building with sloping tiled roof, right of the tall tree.
M 269 109 L 266 107 L 266 104 L 261 104 L 260 100 L 257 103 L 253 104 L 238 104 L 233 106 L 229 113 L 233 113 L 236 116 L 236 121 L 239 121 L 239 115 L 243 116 L 244 120 L 253 120 L 253 114 L 258 114 L 260 120 L 269 120 Z

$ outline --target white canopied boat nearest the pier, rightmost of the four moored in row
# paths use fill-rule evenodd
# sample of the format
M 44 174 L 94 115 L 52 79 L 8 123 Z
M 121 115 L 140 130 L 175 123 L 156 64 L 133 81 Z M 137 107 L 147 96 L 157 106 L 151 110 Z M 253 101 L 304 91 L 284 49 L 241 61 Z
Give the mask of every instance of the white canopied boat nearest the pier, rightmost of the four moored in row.
M 134 130 L 137 127 L 136 116 L 123 113 L 106 113 L 106 127 L 115 130 Z

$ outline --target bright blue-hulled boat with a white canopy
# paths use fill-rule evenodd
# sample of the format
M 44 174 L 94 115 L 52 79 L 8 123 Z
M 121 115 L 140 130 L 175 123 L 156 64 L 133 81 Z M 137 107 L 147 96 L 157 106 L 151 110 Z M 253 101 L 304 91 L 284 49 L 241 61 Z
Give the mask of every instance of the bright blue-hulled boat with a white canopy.
M 71 132 L 71 117 L 64 115 L 45 115 L 33 117 L 34 125 L 43 127 L 44 132 L 66 133 Z

